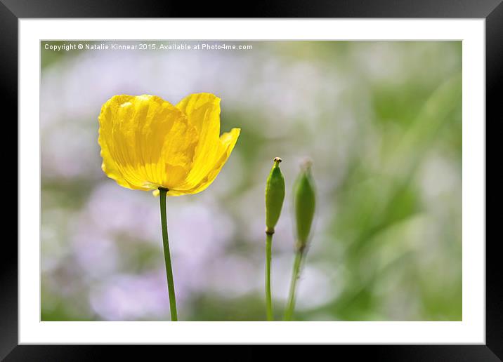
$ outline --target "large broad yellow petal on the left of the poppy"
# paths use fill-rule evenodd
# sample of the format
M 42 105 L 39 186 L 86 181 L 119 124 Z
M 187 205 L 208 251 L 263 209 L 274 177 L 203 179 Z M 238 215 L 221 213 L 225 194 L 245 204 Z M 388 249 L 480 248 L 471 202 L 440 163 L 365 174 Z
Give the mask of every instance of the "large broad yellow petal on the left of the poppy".
M 197 128 L 152 95 L 115 95 L 101 109 L 103 170 L 131 189 L 175 188 L 192 168 Z

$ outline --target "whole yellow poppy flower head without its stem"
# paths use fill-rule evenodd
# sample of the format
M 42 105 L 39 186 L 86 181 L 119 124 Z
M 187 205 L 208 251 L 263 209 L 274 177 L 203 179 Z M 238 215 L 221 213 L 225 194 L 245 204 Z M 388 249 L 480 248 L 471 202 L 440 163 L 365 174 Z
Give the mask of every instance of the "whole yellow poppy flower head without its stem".
M 233 151 L 240 128 L 220 135 L 220 98 L 188 95 L 174 106 L 155 95 L 114 95 L 98 117 L 103 172 L 129 189 L 206 189 Z

